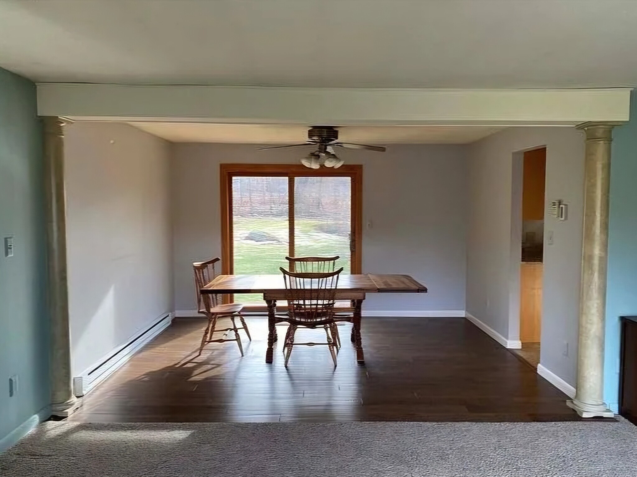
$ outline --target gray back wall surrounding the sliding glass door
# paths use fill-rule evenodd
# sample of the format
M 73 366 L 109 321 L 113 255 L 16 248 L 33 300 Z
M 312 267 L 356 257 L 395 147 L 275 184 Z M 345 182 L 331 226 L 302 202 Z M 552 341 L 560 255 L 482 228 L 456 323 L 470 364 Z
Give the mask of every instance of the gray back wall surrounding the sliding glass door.
M 297 163 L 304 150 L 175 144 L 171 159 L 175 307 L 194 310 L 193 261 L 221 253 L 219 164 Z M 427 295 L 368 295 L 366 310 L 464 310 L 466 146 L 392 145 L 344 152 L 364 164 L 362 271 L 408 273 Z

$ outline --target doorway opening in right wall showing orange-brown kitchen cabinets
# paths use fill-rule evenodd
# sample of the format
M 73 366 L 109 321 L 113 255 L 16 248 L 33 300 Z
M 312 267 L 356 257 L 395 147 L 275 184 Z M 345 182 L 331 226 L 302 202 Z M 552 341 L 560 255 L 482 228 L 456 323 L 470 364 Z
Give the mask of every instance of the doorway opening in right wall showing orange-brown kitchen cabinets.
M 540 363 L 544 204 L 547 149 L 524 152 L 522 158 L 522 250 L 520 251 L 520 341 L 516 353 L 531 366 Z

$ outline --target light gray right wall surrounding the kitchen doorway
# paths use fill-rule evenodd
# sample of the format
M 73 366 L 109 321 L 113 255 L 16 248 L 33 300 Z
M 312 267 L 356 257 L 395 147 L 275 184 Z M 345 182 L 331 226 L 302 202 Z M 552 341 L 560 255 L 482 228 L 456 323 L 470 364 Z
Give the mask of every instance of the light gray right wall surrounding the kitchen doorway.
M 514 171 L 513 162 L 515 152 L 538 146 L 547 147 L 547 204 L 555 199 L 568 203 L 568 220 L 564 222 L 545 213 L 540 362 L 575 386 L 584 159 L 580 131 L 571 127 L 517 127 L 471 145 L 467 311 L 505 338 L 519 338 L 519 308 L 513 310 L 510 293 L 515 296 L 519 290 L 519 281 L 515 281 L 519 259 L 512 253 L 517 246 L 512 238 L 512 225 L 517 227 L 515 221 L 512 223 L 512 194 L 519 196 L 519 191 L 512 188 L 512 178 L 518 182 L 520 174 Z M 550 231 L 554 232 L 554 245 L 547 243 Z M 564 355 L 567 344 L 568 355 Z

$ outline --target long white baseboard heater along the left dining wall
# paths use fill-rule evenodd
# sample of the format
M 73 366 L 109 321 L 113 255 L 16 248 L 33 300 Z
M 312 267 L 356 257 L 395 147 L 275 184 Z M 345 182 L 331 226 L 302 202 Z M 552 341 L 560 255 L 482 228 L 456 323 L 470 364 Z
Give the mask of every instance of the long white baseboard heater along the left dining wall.
M 125 362 L 131 359 L 140 348 L 151 341 L 155 336 L 166 329 L 173 321 L 173 313 L 164 313 L 161 317 L 140 332 L 127 339 L 117 348 L 111 350 L 108 355 L 98 360 L 94 365 L 85 369 L 80 376 L 73 377 L 73 394 L 77 397 L 86 395 L 108 376 L 115 373 Z

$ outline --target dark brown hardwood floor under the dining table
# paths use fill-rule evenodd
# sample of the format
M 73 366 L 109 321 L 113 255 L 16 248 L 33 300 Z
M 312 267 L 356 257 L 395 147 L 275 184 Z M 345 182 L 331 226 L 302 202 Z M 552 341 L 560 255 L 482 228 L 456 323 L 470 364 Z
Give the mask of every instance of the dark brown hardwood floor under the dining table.
M 267 320 L 247 323 L 245 357 L 235 343 L 212 343 L 193 359 L 205 320 L 176 318 L 68 420 L 580 420 L 566 395 L 464 318 L 363 318 L 366 366 L 357 366 L 351 325 L 343 325 L 336 369 L 326 346 L 298 346 L 285 369 L 285 325 L 276 327 L 274 362 L 266 364 Z M 321 330 L 297 333 L 325 338 Z

